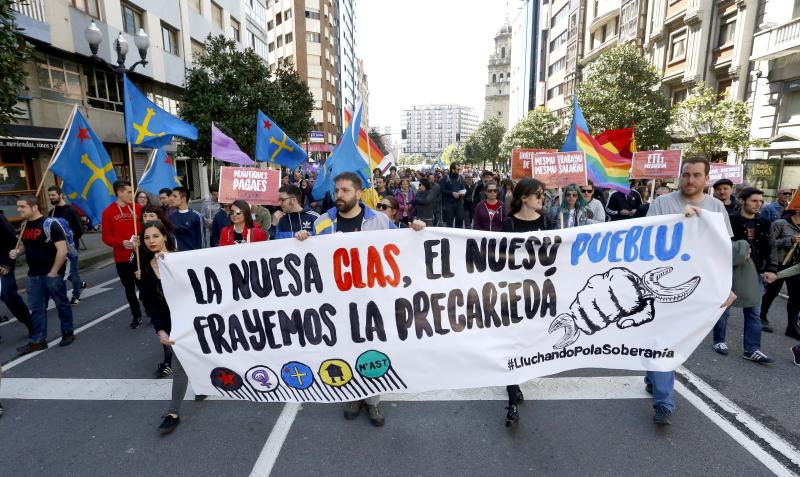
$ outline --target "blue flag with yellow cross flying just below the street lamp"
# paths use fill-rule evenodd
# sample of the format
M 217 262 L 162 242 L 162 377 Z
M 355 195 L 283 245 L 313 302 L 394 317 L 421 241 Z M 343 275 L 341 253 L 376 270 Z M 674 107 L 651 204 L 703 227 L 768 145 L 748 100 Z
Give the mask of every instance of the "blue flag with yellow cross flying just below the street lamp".
M 197 128 L 169 114 L 147 99 L 127 76 L 125 87 L 125 137 L 132 146 L 159 148 L 173 136 L 197 140 Z

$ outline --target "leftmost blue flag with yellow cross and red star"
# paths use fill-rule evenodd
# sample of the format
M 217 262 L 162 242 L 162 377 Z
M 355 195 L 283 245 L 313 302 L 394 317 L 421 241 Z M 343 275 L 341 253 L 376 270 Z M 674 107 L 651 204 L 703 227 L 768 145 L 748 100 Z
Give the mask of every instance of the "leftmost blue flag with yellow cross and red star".
M 93 224 L 99 224 L 103 210 L 116 200 L 112 184 L 117 174 L 103 143 L 80 111 L 75 111 L 50 170 L 61 178 L 61 189 L 70 202 Z

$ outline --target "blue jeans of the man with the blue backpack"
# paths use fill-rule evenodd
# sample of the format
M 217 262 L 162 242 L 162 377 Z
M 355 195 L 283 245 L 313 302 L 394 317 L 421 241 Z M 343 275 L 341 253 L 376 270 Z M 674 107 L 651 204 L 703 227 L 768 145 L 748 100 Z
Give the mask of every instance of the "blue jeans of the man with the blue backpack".
M 28 276 L 28 304 L 31 307 L 31 341 L 38 342 L 47 339 L 47 302 L 52 299 L 58 310 L 58 320 L 61 322 L 61 334 L 71 334 L 72 308 L 67 300 L 67 286 L 64 284 L 64 275 L 48 277 L 40 275 Z

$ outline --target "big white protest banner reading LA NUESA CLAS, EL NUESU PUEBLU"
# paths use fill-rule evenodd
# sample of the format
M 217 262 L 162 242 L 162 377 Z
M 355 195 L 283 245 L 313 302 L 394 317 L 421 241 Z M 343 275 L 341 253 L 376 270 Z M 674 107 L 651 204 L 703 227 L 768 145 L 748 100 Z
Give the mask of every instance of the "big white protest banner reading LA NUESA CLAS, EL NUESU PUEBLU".
M 388 230 L 167 254 L 195 392 L 341 402 L 674 369 L 730 292 L 720 214 L 547 232 Z

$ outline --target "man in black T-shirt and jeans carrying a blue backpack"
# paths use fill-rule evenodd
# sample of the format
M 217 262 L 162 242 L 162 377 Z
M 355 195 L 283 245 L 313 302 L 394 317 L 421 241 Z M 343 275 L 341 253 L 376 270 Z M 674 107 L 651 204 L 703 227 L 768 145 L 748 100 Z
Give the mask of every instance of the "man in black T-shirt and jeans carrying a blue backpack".
M 31 309 L 31 341 L 17 348 L 20 355 L 47 348 L 47 303 L 53 300 L 61 322 L 61 342 L 68 346 L 75 340 L 72 309 L 64 284 L 69 247 L 67 231 L 61 220 L 45 218 L 39 211 L 39 199 L 23 196 L 17 199 L 17 212 L 25 220 L 22 244 L 8 252 L 15 260 L 25 255 L 28 261 L 28 307 Z M 74 245 L 73 245 L 74 246 Z

